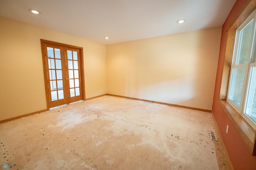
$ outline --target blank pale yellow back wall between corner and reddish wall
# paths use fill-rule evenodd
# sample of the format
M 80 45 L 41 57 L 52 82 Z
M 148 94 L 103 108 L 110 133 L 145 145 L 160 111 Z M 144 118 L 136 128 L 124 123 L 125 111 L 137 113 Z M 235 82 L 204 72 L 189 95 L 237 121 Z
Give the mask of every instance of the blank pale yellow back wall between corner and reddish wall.
M 108 93 L 212 110 L 220 37 L 221 27 L 107 45 Z

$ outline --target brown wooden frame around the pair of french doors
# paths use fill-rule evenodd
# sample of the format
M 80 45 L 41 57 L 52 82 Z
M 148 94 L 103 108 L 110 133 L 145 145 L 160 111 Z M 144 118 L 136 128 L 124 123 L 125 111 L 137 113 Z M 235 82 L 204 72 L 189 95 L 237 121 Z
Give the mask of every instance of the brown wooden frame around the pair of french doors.
M 58 43 L 58 42 L 52 42 L 52 41 L 48 41 L 48 40 L 42 40 L 41 41 L 41 50 L 42 50 L 42 61 L 43 61 L 43 69 L 44 69 L 44 86 L 45 86 L 45 93 L 46 93 L 46 105 L 47 105 L 47 110 L 50 109 L 50 103 L 51 101 L 51 94 L 50 94 L 50 90 L 49 90 L 49 69 L 48 69 L 48 65 L 47 65 L 47 61 L 45 59 L 45 56 L 47 56 L 47 54 L 45 54 L 45 49 L 47 45 L 53 45 L 53 46 L 59 46 L 62 47 L 63 49 L 66 48 L 70 48 L 70 49 L 78 49 L 80 56 L 79 57 L 79 61 L 78 65 L 80 67 L 80 78 L 81 78 L 81 88 L 80 88 L 80 96 L 82 100 L 85 100 L 85 83 L 84 83 L 84 55 L 83 55 L 83 48 L 82 47 L 78 47 L 78 46 L 74 46 L 74 45 L 68 45 L 68 44 L 64 44 L 64 43 Z M 63 53 L 66 53 L 66 51 L 63 50 Z M 64 61 L 66 63 L 66 61 Z M 66 67 L 63 65 L 63 67 Z M 65 68 L 66 69 L 66 68 Z

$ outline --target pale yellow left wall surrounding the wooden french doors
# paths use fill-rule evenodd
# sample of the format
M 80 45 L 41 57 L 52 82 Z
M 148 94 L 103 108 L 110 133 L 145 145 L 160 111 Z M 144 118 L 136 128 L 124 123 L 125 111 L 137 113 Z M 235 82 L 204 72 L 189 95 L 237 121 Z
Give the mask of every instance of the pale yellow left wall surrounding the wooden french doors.
M 40 39 L 83 47 L 86 98 L 107 92 L 106 45 L 0 17 L 0 120 L 46 109 Z

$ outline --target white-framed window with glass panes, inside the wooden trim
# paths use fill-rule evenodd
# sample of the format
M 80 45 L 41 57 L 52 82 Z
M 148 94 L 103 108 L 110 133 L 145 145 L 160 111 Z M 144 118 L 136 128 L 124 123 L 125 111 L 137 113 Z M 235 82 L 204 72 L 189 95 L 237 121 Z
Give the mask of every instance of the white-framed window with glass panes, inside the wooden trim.
M 237 28 L 228 99 L 230 105 L 256 129 L 256 12 Z

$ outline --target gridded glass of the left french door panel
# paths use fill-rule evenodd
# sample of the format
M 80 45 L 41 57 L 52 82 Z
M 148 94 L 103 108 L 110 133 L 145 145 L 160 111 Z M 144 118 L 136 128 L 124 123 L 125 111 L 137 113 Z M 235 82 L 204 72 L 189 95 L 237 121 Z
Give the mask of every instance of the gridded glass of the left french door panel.
M 52 101 L 64 99 L 60 49 L 47 47 Z

